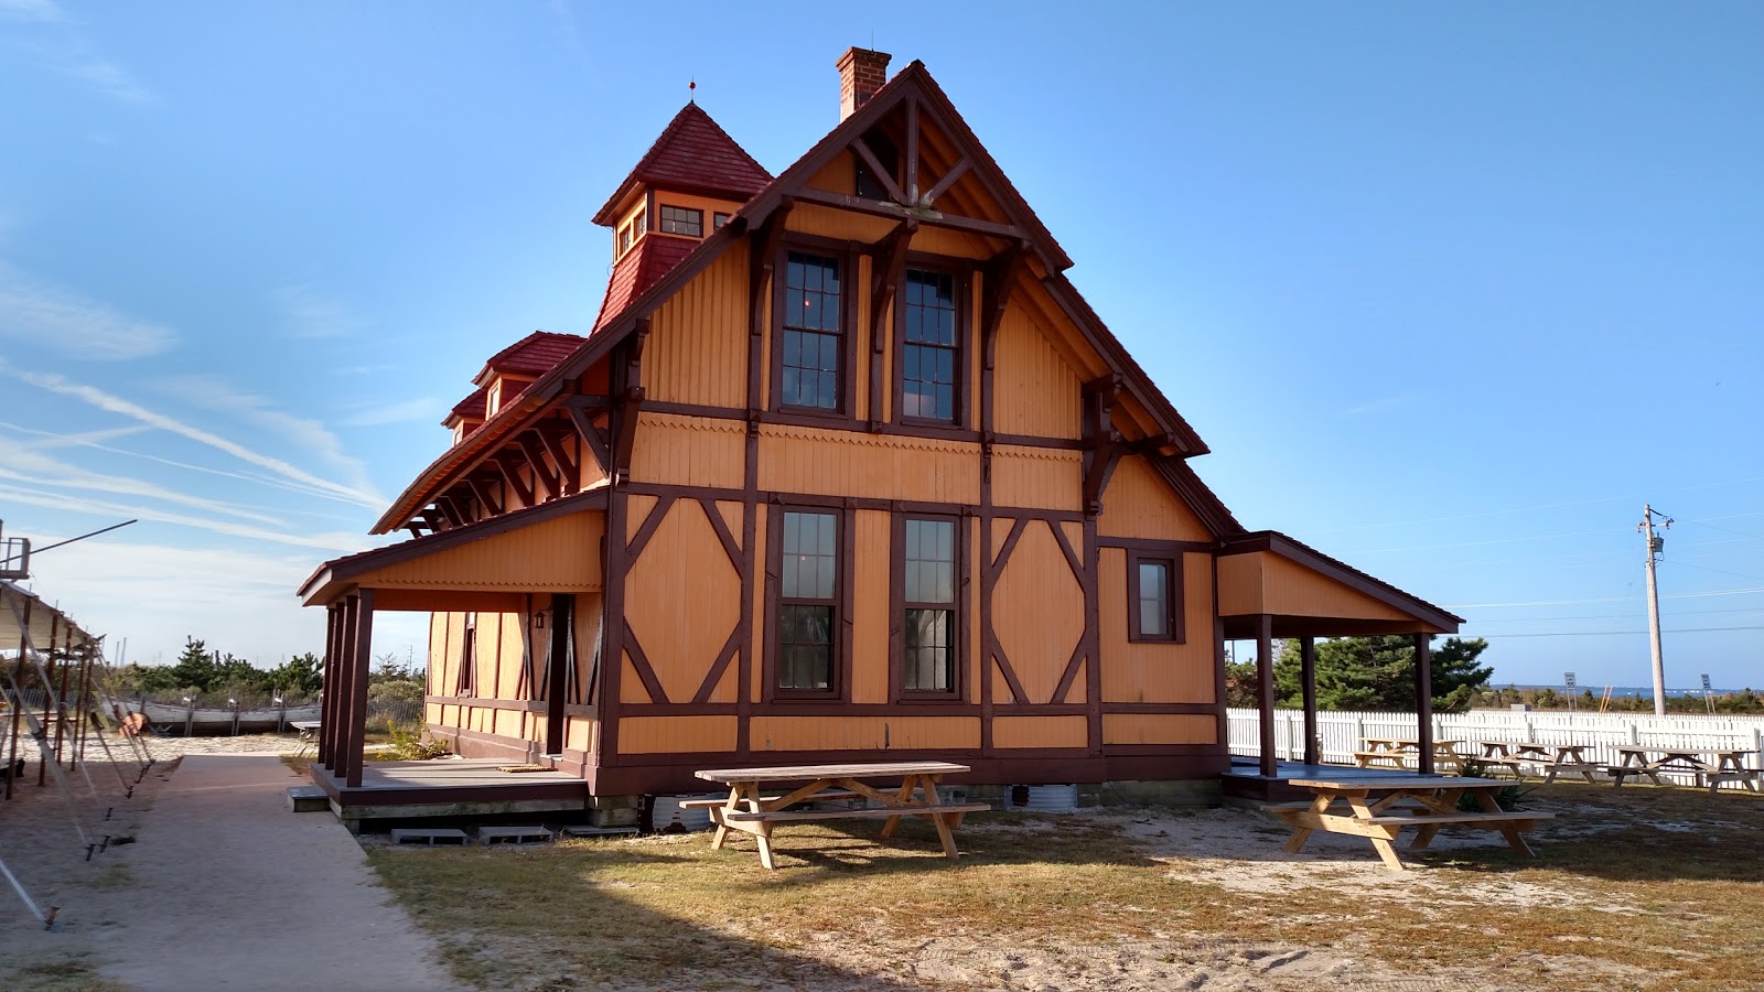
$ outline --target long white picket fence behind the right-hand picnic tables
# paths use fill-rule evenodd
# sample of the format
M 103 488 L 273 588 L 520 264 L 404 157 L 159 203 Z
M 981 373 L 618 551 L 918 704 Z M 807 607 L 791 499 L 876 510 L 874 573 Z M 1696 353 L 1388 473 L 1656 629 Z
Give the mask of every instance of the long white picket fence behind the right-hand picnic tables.
M 1226 710 L 1226 725 L 1231 754 L 1261 757 L 1259 711 Z M 1416 729 L 1415 713 L 1318 713 L 1319 754 L 1325 763 L 1353 764 L 1353 752 L 1364 750 L 1365 738 L 1415 738 Z M 1764 768 L 1764 717 L 1473 710 L 1436 713 L 1434 740 L 1581 743 L 1591 745 L 1588 757 L 1600 764 L 1618 764 L 1623 745 L 1750 750 L 1753 757 L 1746 764 Z M 1304 711 L 1274 711 L 1274 747 L 1281 761 L 1304 761 Z M 1476 748 L 1461 750 L 1476 754 Z

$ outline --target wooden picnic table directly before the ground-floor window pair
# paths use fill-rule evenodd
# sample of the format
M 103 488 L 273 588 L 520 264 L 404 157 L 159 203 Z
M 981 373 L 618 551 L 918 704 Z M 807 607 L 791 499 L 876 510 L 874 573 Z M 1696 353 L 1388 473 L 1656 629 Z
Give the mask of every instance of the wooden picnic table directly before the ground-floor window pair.
M 967 764 L 951 764 L 947 761 L 716 768 L 697 771 L 695 775 L 707 782 L 729 785 L 729 798 L 691 800 L 681 803 L 681 807 L 707 808 L 711 812 L 711 823 L 716 824 L 716 838 L 711 840 L 713 849 L 721 847 L 732 830 L 753 835 L 760 847 L 760 863 L 767 868 L 778 867 L 773 863 L 773 824 L 848 817 L 887 819 L 882 824 L 882 837 L 893 837 L 903 815 L 930 819 L 937 826 L 938 840 L 944 842 L 944 854 L 954 860 L 958 853 L 951 830 L 961 826 L 965 814 L 991 808 L 986 803 L 944 803 L 937 796 L 937 784 L 944 775 L 958 775 L 967 770 Z M 898 782 L 898 785 L 873 785 L 871 782 L 877 778 Z M 776 791 L 767 796 L 762 794 L 764 787 Z M 877 805 L 864 808 L 803 808 L 804 803 L 840 800 L 870 800 Z

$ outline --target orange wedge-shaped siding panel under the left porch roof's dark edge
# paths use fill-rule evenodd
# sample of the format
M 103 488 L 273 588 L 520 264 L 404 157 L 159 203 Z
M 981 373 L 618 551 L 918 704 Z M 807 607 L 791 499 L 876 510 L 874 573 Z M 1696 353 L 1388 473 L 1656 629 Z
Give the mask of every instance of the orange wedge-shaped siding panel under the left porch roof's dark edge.
M 362 588 L 598 591 L 600 535 L 607 515 L 584 510 L 459 547 L 386 565 L 356 579 Z

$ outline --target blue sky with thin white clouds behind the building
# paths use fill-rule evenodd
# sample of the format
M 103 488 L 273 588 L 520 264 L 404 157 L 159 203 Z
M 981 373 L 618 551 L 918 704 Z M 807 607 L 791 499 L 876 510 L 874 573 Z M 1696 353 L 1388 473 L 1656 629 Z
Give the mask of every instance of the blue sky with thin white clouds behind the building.
M 1499 681 L 1646 685 L 1653 501 L 1669 685 L 1764 687 L 1764 7 L 653 11 L 0 0 L 0 519 L 143 521 L 37 588 L 134 660 L 319 650 L 293 588 L 485 357 L 587 330 L 589 217 L 686 81 L 778 171 L 873 37 L 1245 526 L 1455 609 Z

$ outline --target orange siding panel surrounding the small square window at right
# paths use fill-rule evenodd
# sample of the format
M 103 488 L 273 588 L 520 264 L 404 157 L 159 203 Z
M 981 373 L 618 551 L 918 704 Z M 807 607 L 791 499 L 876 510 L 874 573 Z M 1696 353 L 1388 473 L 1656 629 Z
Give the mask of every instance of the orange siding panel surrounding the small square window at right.
M 1099 563 L 1102 701 L 1214 703 L 1212 556 L 1182 556 L 1184 644 L 1127 641 L 1127 552 L 1104 547 Z

